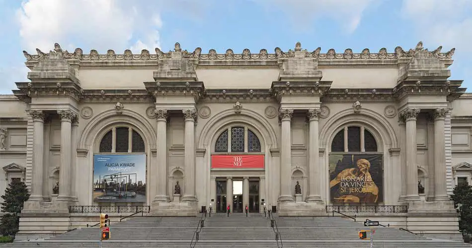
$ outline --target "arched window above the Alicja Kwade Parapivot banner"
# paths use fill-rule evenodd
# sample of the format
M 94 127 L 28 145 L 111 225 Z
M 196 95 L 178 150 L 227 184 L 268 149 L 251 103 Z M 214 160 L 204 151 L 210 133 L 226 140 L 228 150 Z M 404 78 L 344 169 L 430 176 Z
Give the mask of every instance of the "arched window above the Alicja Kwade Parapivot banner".
M 145 152 L 141 135 L 129 126 L 116 126 L 103 135 L 99 152 Z

